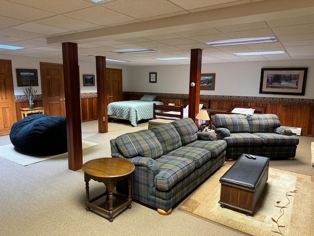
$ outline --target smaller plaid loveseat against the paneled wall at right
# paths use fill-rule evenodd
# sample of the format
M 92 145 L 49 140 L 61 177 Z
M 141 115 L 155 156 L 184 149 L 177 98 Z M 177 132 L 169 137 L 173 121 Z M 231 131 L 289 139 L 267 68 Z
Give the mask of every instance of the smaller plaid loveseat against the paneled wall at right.
M 237 160 L 242 153 L 273 159 L 295 156 L 299 139 L 280 126 L 277 115 L 216 114 L 212 118 L 217 139 L 227 142 L 226 159 Z

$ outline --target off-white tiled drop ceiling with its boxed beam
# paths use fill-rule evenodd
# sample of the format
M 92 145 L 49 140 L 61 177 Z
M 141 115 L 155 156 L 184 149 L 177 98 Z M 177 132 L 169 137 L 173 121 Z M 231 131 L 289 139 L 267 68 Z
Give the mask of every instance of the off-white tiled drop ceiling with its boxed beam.
M 191 49 L 203 63 L 314 59 L 314 0 L 0 0 L 1 55 L 62 59 L 62 42 L 78 43 L 79 61 L 121 59 L 125 66 L 189 64 Z M 279 42 L 212 47 L 205 42 L 276 36 Z M 110 51 L 150 48 L 157 53 Z M 282 51 L 237 57 L 233 53 Z M 3 57 L 2 57 L 3 58 Z M 112 62 L 111 62 L 112 63 Z

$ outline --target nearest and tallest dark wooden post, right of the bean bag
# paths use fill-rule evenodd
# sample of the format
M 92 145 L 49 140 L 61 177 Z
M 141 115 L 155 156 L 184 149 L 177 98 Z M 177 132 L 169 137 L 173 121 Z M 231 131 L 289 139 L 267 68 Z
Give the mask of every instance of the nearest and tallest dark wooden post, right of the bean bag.
M 83 165 L 78 45 L 62 43 L 62 54 L 69 169 L 77 171 Z

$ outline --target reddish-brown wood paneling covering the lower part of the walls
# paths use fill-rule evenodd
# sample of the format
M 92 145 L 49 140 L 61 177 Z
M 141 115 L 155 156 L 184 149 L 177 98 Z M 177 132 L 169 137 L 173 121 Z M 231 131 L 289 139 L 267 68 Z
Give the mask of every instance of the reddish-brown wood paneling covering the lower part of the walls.
M 123 100 L 138 100 L 142 95 L 124 95 Z M 174 94 L 176 96 L 176 94 Z M 164 104 L 175 103 L 175 105 L 187 105 L 188 99 L 178 97 L 158 97 L 157 101 Z M 207 108 L 230 110 L 234 106 L 255 106 L 263 107 L 265 113 L 276 114 L 281 125 L 290 127 L 301 127 L 302 135 L 314 137 L 314 105 L 304 104 L 286 104 L 270 102 L 243 102 L 243 101 L 222 101 L 214 99 L 201 99 Z M 41 107 L 42 101 L 34 101 L 35 106 Z M 20 108 L 28 107 L 28 102 L 16 103 L 17 119 L 22 119 Z M 96 120 L 97 115 L 97 97 L 81 98 L 81 118 L 82 121 Z

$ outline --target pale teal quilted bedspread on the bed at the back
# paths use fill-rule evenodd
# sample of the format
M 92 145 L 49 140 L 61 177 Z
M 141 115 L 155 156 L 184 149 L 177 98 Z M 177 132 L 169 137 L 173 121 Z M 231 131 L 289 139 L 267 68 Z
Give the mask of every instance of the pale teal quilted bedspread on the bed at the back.
M 163 105 L 159 101 L 131 100 L 121 102 L 111 102 L 107 106 L 108 116 L 116 116 L 128 119 L 131 125 L 137 126 L 141 119 L 153 118 L 153 104 Z

